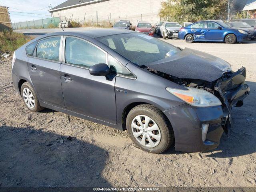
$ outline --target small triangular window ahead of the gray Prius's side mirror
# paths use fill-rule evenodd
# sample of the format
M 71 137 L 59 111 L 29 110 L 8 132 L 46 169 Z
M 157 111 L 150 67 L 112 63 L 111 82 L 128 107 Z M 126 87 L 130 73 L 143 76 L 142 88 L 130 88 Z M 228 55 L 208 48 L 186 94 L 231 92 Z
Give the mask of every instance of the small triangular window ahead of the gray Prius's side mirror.
M 120 76 L 136 78 L 128 69 L 125 68 L 122 64 L 120 64 L 114 57 L 108 55 L 108 65 L 110 67 L 111 72 L 114 74 L 118 74 Z

